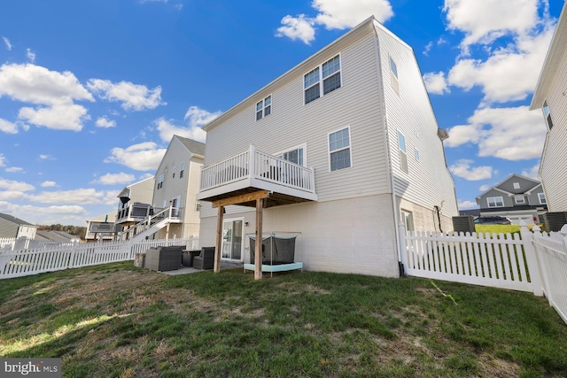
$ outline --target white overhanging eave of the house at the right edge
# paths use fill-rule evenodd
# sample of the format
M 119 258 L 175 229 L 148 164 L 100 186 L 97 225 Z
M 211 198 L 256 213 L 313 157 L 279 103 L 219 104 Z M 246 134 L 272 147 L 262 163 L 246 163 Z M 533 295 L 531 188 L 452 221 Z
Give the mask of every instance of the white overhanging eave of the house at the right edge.
M 555 76 L 556 68 L 563 57 L 565 47 L 567 47 L 567 5 L 563 4 L 561 15 L 549 43 L 548 53 L 541 67 L 538 83 L 533 92 L 532 103 L 530 104 L 531 111 L 541 108 L 545 100 L 544 96 L 548 93 L 548 88 Z

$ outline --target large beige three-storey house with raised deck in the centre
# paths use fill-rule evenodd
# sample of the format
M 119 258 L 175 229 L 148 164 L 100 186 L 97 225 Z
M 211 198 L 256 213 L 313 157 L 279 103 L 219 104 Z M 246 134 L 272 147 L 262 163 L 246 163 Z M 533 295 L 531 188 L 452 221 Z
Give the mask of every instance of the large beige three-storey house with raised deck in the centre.
M 399 222 L 458 215 L 414 51 L 373 17 L 204 129 L 199 242 L 221 225 L 221 258 L 250 261 L 254 229 L 300 232 L 308 270 L 397 277 Z

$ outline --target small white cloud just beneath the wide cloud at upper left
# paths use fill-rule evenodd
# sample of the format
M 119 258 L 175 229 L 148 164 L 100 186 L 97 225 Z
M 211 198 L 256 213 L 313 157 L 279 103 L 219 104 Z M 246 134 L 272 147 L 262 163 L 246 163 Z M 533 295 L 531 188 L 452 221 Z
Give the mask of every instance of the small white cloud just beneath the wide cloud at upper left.
M 89 120 L 87 109 L 71 102 L 50 107 L 23 107 L 19 109 L 18 116 L 37 126 L 71 131 L 81 131 L 82 122 Z

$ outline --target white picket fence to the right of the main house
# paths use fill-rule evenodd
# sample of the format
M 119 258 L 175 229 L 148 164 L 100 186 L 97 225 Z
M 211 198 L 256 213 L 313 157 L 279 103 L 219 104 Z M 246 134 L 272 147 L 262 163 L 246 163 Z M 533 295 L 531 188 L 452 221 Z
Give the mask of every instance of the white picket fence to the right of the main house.
M 400 223 L 406 274 L 532 292 L 548 298 L 567 323 L 567 225 L 562 233 L 520 235 L 406 232 Z M 404 253 L 405 251 L 405 253 Z

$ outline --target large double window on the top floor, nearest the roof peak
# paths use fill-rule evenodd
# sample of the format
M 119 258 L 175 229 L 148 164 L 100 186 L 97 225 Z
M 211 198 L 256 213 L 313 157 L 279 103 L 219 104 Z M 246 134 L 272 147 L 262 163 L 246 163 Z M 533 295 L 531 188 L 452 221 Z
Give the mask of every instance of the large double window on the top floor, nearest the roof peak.
M 305 104 L 324 96 L 341 86 L 340 55 L 303 75 L 303 92 Z

